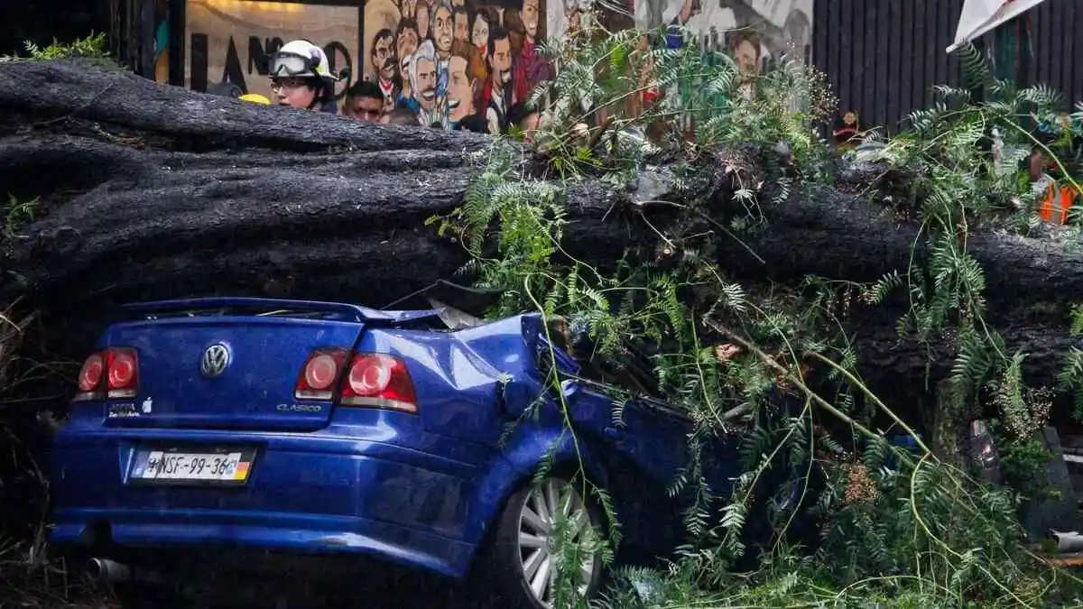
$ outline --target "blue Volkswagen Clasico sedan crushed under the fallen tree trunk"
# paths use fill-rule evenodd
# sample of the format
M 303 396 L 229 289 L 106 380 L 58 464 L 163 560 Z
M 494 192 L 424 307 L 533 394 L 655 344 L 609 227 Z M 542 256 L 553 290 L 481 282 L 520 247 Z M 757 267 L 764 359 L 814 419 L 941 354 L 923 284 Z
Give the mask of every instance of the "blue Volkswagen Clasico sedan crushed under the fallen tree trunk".
M 441 313 L 257 298 L 125 307 L 54 440 L 52 542 L 108 582 L 138 580 L 162 550 L 337 555 L 482 572 L 501 606 L 540 609 L 557 521 L 573 542 L 612 524 L 597 485 L 631 523 L 618 558 L 671 552 L 687 496 L 667 488 L 688 464 L 690 422 L 584 378 L 538 314 L 455 327 Z M 726 462 L 704 464 L 716 492 Z M 593 595 L 601 556 L 579 561 Z

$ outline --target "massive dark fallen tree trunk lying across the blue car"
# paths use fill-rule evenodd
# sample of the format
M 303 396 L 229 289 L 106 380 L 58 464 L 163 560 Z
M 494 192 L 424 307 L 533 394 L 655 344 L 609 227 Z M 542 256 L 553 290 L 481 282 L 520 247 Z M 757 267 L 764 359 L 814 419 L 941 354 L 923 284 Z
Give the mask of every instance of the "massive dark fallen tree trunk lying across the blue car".
M 485 135 L 246 104 L 82 62 L 0 64 L 0 190 L 40 197 L 43 213 L 18 231 L 25 236 L 6 252 L 5 270 L 29 281 L 36 303 L 60 319 L 101 319 L 122 300 L 211 294 L 380 307 L 452 278 L 466 251 L 425 221 L 464 202 L 491 144 Z M 524 176 L 543 168 L 524 154 Z M 718 164 L 704 171 L 721 174 Z M 696 195 L 713 198 L 723 220 L 743 212 L 723 180 L 704 183 L 717 192 Z M 656 230 L 695 224 L 671 207 L 624 205 L 642 198 L 632 190 L 569 186 L 571 254 L 612 269 L 629 247 L 652 256 Z M 917 228 L 860 196 L 818 187 L 765 212 L 767 231 L 743 242 L 714 237 L 734 278 L 863 282 L 912 263 Z M 1042 328 L 1048 339 L 1034 346 L 1062 349 L 1061 320 L 1020 320 L 1035 301 L 1083 289 L 1083 258 L 1052 242 L 992 234 L 969 245 L 990 301 L 1019 322 L 1009 345 Z M 915 379 L 928 354 L 897 345 L 897 313 L 859 324 L 862 359 L 880 377 Z M 1048 362 L 1036 365 L 1051 376 Z

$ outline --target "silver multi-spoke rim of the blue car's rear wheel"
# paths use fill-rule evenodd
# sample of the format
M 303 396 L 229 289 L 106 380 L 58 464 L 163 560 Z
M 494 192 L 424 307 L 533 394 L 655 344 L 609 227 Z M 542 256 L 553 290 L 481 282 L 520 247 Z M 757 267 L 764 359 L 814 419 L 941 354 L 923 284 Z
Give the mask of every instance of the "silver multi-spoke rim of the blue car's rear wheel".
M 545 607 L 552 606 L 556 587 L 558 556 L 554 552 L 554 526 L 558 515 L 569 519 L 571 541 L 583 547 L 593 522 L 583 497 L 572 484 L 549 478 L 534 485 L 519 515 L 519 556 L 523 578 L 534 598 Z M 589 548 L 584 548 L 579 558 L 579 594 L 586 594 L 593 580 L 596 561 Z

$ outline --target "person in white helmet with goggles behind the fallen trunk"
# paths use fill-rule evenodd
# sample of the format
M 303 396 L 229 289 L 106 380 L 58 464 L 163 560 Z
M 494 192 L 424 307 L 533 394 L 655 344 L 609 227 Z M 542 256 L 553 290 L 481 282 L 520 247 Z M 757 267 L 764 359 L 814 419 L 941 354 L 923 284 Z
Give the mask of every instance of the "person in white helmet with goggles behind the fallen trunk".
M 278 104 L 337 114 L 335 83 L 324 50 L 308 40 L 287 42 L 271 55 L 271 92 Z

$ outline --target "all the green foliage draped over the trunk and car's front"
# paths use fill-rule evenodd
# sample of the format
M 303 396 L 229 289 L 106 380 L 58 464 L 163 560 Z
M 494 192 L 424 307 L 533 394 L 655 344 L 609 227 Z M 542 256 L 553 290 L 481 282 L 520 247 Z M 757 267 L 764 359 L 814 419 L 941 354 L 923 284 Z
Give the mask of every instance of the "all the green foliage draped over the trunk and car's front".
M 995 404 L 1006 435 L 1020 442 L 1044 424 L 1048 394 L 1027 386 L 1025 355 L 1008 354 L 987 324 L 984 277 L 966 236 L 979 221 L 1029 224 L 1034 194 L 1020 185 L 1015 164 L 1025 156 L 1019 151 L 1030 148 L 1014 118 L 1052 95 L 990 85 L 977 74 L 976 82 L 1001 98 L 975 104 L 967 91 L 938 88 L 937 105 L 915 113 L 908 133 L 859 151 L 905 172 L 906 200 L 921 202 L 926 255 L 906 273 L 866 286 L 810 277 L 799 289 L 749 291 L 713 261 L 714 244 L 770 230 L 765 208 L 830 178 L 831 152 L 814 135 L 817 121 L 830 114 L 824 100 L 831 96 L 817 90 L 822 81 L 800 64 L 782 62 L 745 94 L 747 83 L 730 61 L 705 62 L 694 47 L 647 49 L 637 30 L 592 34 L 546 49 L 559 62 L 559 76 L 535 91 L 535 101 L 548 102 L 535 143 L 562 181 L 525 174 L 519 148 L 501 141 L 479 159 L 484 170 L 465 205 L 433 222 L 473 255 L 465 274 L 506 290 L 493 315 L 561 315 L 590 338 L 591 352 L 577 357 L 614 375 L 632 365 L 629 352 L 654 347 L 653 378 L 614 398 L 614 420 L 623 400 L 636 393 L 662 398 L 693 420 L 690 463 L 670 487 L 671 494 L 692 498 L 688 542 L 667 570 L 618 570 L 600 606 L 1032 607 L 1054 599 L 1059 573 L 1026 549 L 1016 493 L 973 480 L 921 442 L 917 456 L 889 446 L 884 432 L 871 428 L 874 413 L 911 430 L 861 383 L 858 354 L 839 332 L 852 302 L 877 304 L 905 289 L 912 307 L 900 320 L 901 334 L 926 341 L 956 337 L 945 398 L 958 418 L 980 414 L 983 402 Z M 629 95 L 649 88 L 696 93 L 667 93 L 642 114 L 623 109 Z M 643 137 L 658 125 L 661 135 Z M 980 146 L 990 126 L 1005 141 L 996 159 Z M 683 161 L 674 178 L 682 195 L 675 213 L 707 218 L 710 229 L 678 222 L 656 231 L 656 251 L 631 246 L 611 272 L 576 260 L 563 243 L 567 193 L 592 180 L 621 190 L 658 150 Z M 696 180 L 719 165 L 747 211 L 729 226 L 712 220 L 716 202 L 697 196 L 709 189 Z M 807 385 L 809 362 L 825 368 L 820 392 Z M 544 367 L 574 435 L 559 391 L 567 375 L 557 373 L 554 361 Z M 1083 354 L 1078 367 L 1083 371 Z M 702 476 L 705 448 L 719 438 L 740 446 L 743 471 L 732 489 L 708 488 Z M 1033 458 L 1016 449 L 1022 445 L 1008 449 L 1019 472 Z M 823 488 L 804 484 L 813 462 L 827 475 Z M 783 478 L 780 463 L 787 466 Z M 602 489 L 588 487 L 610 505 Z M 779 497 L 793 488 L 810 493 L 819 517 L 812 556 L 803 556 L 807 552 L 785 534 L 795 515 Z M 611 507 L 606 513 L 616 524 L 635 524 L 619 522 Z M 765 518 L 771 534 L 758 548 L 758 569 L 734 573 L 756 549 L 746 533 Z M 600 543 L 614 546 L 612 539 Z M 571 555 L 566 560 L 575 563 Z M 569 570 L 558 581 L 560 606 L 582 607 Z M 1059 594 L 1054 601 L 1069 599 L 1072 588 Z

